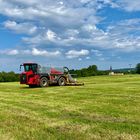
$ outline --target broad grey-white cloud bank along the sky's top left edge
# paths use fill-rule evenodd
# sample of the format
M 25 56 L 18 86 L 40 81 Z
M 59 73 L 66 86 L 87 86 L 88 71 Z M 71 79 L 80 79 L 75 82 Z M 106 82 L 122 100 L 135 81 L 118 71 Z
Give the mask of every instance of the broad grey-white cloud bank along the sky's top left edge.
M 75 6 L 77 8 L 74 8 Z M 18 20 L 34 20 L 38 22 L 43 20 L 46 24 L 50 22 L 60 26 L 75 26 L 82 24 L 86 17 L 90 14 L 93 16 L 96 11 L 94 8 L 89 10 L 82 7 L 79 0 L 77 2 L 65 0 L 34 0 L 31 2 L 25 0 L 1 0 L 0 13 Z

